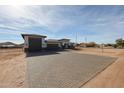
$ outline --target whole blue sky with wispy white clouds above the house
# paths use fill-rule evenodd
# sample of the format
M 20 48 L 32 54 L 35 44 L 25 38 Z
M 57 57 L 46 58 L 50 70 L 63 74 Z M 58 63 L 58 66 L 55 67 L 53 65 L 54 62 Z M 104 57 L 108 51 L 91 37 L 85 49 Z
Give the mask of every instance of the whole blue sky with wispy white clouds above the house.
M 0 42 L 23 43 L 24 33 L 114 43 L 124 38 L 124 6 L 0 5 Z

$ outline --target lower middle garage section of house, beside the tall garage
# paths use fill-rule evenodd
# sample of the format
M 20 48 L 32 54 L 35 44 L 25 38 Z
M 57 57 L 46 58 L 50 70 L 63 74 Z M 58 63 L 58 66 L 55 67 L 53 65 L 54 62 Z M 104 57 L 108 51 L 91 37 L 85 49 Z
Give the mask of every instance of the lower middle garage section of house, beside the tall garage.
M 56 39 L 48 39 L 46 40 L 46 43 L 47 43 L 48 50 L 55 50 L 55 49 L 62 48 L 62 45 L 61 45 L 62 42 Z

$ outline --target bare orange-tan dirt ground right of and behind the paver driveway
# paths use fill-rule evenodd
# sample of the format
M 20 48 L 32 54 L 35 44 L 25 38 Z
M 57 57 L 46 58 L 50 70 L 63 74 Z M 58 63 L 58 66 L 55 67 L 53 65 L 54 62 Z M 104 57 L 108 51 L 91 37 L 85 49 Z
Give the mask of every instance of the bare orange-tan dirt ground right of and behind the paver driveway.
M 83 48 L 78 53 L 117 57 L 118 59 L 107 69 L 89 80 L 82 87 L 123 88 L 124 87 L 124 49 Z

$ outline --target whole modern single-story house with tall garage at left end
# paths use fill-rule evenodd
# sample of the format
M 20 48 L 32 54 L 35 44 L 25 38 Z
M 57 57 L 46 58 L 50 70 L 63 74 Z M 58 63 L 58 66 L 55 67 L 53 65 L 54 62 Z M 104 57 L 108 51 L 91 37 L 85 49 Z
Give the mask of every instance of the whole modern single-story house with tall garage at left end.
M 41 50 L 56 50 L 73 48 L 73 43 L 70 39 L 48 39 L 46 36 L 36 34 L 22 34 L 25 51 L 41 51 Z

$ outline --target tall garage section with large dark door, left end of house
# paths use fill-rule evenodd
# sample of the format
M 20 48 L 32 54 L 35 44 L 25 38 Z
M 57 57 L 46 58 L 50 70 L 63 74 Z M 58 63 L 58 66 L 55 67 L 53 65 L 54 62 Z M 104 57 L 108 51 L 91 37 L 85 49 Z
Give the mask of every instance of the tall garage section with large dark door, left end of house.
M 41 51 L 47 47 L 45 42 L 46 36 L 36 34 L 22 34 L 22 37 L 25 40 L 25 51 Z

